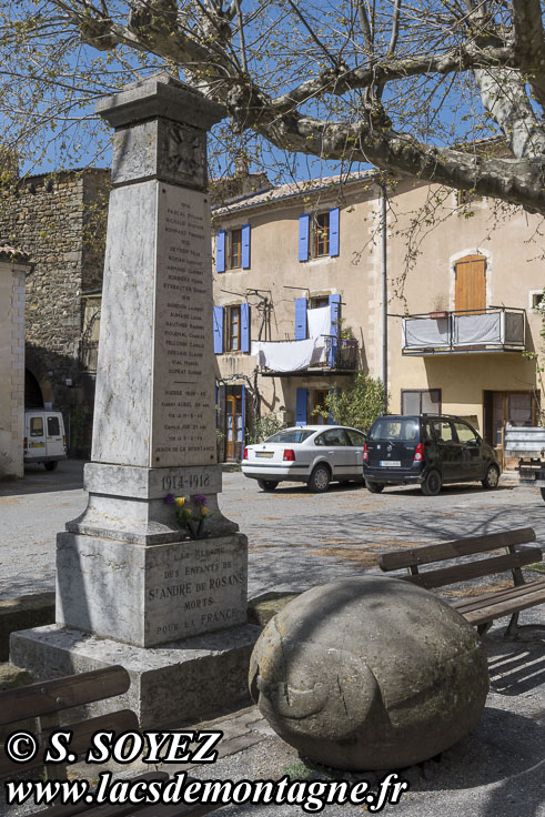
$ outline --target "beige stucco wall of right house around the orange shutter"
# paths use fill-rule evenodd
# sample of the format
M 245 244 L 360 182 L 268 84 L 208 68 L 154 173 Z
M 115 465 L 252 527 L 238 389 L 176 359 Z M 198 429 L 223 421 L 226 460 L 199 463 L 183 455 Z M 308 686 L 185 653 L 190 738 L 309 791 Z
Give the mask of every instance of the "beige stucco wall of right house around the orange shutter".
M 404 183 L 397 189 L 388 215 L 388 311 L 402 314 L 454 310 L 454 264 L 468 254 L 486 258 L 486 305 L 526 310 L 526 346 L 539 347 L 539 314 L 531 309 L 531 293 L 545 286 L 545 249 L 539 216 L 522 209 L 499 206 L 481 200 L 464 212 L 454 192 L 444 195 L 435 213 L 435 225 L 425 225 L 415 240 L 418 255 L 405 271 L 407 228 L 411 218 L 430 198 L 430 188 Z M 470 214 L 471 213 L 471 214 Z M 394 279 L 404 276 L 404 299 L 394 294 Z M 533 391 L 544 405 L 543 383 L 536 366 L 517 352 L 457 352 L 435 356 L 401 354 L 401 319 L 391 317 L 390 392 L 391 410 L 401 410 L 403 389 L 442 390 L 442 411 L 476 415 L 483 430 L 484 391 Z

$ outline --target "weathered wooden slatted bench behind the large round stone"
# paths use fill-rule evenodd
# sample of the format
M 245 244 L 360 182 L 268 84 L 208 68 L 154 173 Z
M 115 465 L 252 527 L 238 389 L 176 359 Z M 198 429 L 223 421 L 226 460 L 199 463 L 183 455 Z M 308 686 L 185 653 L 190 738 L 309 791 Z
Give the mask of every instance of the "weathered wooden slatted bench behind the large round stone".
M 438 545 L 424 545 L 403 551 L 383 553 L 379 558 L 382 571 L 397 571 L 406 568 L 407 576 L 400 578 L 417 584 L 426 589 L 444 587 L 483 576 L 492 576 L 496 573 L 511 571 L 513 574 L 513 587 L 483 593 L 478 596 L 465 598 L 452 604 L 470 624 L 478 628 L 483 635 L 492 626 L 495 618 L 511 615 L 511 622 L 506 631 L 507 636 L 514 637 L 519 629 L 518 614 L 523 609 L 533 607 L 545 602 L 545 578 L 535 582 L 525 582 L 522 567 L 536 562 L 542 562 L 541 547 L 524 547 L 535 542 L 535 533 L 532 527 L 522 527 L 515 531 L 502 531 L 486 536 L 471 536 L 454 542 L 444 542 Z M 423 565 L 433 565 L 461 556 L 474 556 L 490 551 L 506 549 L 501 556 L 488 556 L 486 558 L 465 559 L 462 563 L 420 572 Z M 533 628 L 542 628 L 542 625 L 532 625 Z

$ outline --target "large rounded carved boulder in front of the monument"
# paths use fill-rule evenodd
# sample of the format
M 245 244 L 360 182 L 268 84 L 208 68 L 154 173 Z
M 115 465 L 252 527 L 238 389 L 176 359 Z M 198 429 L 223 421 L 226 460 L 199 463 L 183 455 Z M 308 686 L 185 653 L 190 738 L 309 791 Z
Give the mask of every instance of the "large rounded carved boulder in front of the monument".
M 386 576 L 314 587 L 266 625 L 250 692 L 303 755 L 342 769 L 396 769 L 448 748 L 488 692 L 481 641 L 437 596 Z

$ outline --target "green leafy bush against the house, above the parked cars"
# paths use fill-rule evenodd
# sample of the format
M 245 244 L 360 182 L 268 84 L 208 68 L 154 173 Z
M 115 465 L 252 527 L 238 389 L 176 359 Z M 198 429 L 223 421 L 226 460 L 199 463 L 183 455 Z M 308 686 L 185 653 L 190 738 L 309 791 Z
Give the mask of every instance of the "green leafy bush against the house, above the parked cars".
M 384 414 L 386 394 L 382 381 L 357 372 L 346 389 L 332 389 L 325 397 L 325 406 L 317 408 L 323 417 L 331 416 L 336 425 L 369 432 L 376 417 Z

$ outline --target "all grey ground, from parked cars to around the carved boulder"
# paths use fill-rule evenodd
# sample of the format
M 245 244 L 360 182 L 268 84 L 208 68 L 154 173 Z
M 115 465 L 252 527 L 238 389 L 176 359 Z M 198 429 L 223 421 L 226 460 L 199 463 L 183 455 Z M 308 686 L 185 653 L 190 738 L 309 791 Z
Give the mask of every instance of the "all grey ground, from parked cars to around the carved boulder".
M 0 487 L 0 597 L 53 586 L 54 534 L 84 507 L 81 464 L 65 463 L 54 474 L 29 471 L 23 484 Z M 312 495 L 299 486 L 263 494 L 240 473 L 224 474 L 222 511 L 250 539 L 250 594 L 268 588 L 304 589 L 336 576 L 376 569 L 387 548 L 532 525 L 545 547 L 545 503 L 537 492 L 501 487 L 454 486 L 426 498 L 416 488 L 372 495 L 355 486 Z M 522 614 L 544 623 L 543 607 Z M 543 635 L 543 634 L 542 634 Z M 526 631 L 505 642 L 498 626 L 486 639 L 491 694 L 476 729 L 435 760 L 404 770 L 411 789 L 396 817 L 545 817 L 545 642 Z M 201 725 L 202 726 L 202 725 Z M 222 717 L 221 757 L 193 768 L 195 777 L 221 780 L 292 779 L 317 775 L 281 742 L 255 707 Z M 185 770 L 186 767 L 183 767 Z M 173 774 L 176 769 L 169 768 Z M 80 769 L 88 776 L 84 769 Z M 97 768 L 94 767 L 94 774 Z M 349 780 L 376 775 L 362 773 Z M 1 800 L 1 795 L 0 795 Z M 364 806 L 326 806 L 326 817 L 355 817 Z M 0 814 L 16 817 L 21 809 Z M 222 817 L 297 817 L 296 805 L 226 806 Z M 161 811 L 158 810 L 158 817 Z

